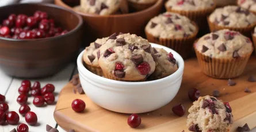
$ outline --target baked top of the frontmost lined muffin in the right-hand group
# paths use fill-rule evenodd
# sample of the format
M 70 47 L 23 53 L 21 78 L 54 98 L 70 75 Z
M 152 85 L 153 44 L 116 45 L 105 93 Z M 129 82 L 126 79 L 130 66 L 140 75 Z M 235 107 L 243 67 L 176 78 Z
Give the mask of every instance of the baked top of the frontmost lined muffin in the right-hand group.
M 232 59 L 253 52 L 252 45 L 250 38 L 239 32 L 224 29 L 202 36 L 194 46 L 205 56 Z

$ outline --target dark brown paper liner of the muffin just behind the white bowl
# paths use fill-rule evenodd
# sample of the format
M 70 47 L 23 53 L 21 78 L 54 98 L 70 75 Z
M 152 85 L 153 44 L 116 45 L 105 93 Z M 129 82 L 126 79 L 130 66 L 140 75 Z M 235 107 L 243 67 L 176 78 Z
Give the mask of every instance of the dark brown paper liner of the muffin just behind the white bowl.
M 189 57 L 192 56 L 193 43 L 196 40 L 196 36 L 198 33 L 197 25 L 194 22 L 193 24 L 196 26 L 196 32 L 194 32 L 194 34 L 192 34 L 191 36 L 184 37 L 184 38 L 159 38 L 159 37 L 154 37 L 152 34 L 148 33 L 146 30 L 145 30 L 145 33 L 148 41 L 156 44 L 160 44 L 163 46 L 167 46 L 173 49 L 174 51 L 178 52 L 183 59 L 188 59 Z

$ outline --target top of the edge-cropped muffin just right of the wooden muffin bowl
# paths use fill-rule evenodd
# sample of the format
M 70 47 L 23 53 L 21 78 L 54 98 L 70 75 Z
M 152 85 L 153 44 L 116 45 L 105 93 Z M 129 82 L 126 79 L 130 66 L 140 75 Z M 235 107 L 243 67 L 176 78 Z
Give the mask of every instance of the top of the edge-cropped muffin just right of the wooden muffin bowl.
M 202 10 L 215 5 L 213 0 L 169 0 L 165 3 L 166 8 L 173 10 Z

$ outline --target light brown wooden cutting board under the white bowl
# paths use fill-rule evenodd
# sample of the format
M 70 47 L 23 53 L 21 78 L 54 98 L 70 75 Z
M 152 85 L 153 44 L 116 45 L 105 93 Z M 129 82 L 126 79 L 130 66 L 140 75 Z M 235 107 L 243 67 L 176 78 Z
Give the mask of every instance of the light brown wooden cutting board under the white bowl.
M 91 102 L 86 95 L 74 94 L 71 83 L 68 83 L 60 92 L 54 117 L 60 127 L 65 130 L 74 129 L 76 132 L 188 131 L 186 117 L 188 108 L 192 105 L 188 99 L 188 91 L 190 88 L 197 88 L 201 91 L 201 95 L 212 95 L 213 90 L 219 90 L 221 93 L 219 99 L 230 102 L 234 115 L 231 132 L 235 131 L 236 127 L 243 126 L 244 123 L 248 123 L 250 129 L 253 129 L 256 127 L 256 83 L 248 82 L 247 78 L 249 75 L 256 76 L 255 69 L 256 57 L 253 57 L 243 75 L 234 79 L 236 86 L 228 86 L 227 80 L 212 79 L 201 73 L 196 59 L 186 60 L 184 78 L 177 96 L 158 110 L 139 114 L 142 117 L 142 125 L 136 129 L 127 125 L 129 114 L 105 110 Z M 251 90 L 251 93 L 244 92 L 246 87 Z M 86 110 L 82 113 L 74 112 L 71 108 L 72 100 L 77 98 L 86 103 Z M 184 104 L 186 108 L 186 114 L 183 117 L 177 117 L 171 112 L 171 108 L 179 103 Z

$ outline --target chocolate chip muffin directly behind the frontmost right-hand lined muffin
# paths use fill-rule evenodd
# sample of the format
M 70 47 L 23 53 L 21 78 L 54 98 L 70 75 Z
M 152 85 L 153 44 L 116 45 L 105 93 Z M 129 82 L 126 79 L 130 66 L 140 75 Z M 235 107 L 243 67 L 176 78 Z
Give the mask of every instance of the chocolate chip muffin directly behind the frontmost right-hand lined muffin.
M 256 26 L 256 15 L 239 6 L 218 8 L 209 16 L 208 23 L 211 31 L 220 29 L 236 30 L 247 37 Z

